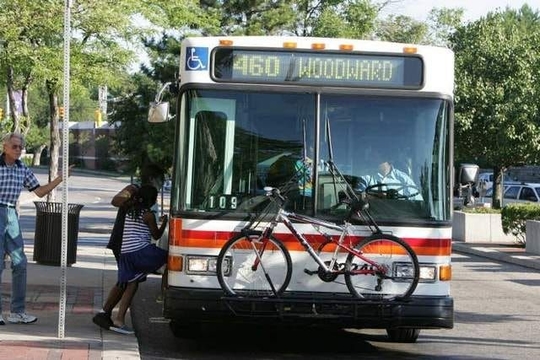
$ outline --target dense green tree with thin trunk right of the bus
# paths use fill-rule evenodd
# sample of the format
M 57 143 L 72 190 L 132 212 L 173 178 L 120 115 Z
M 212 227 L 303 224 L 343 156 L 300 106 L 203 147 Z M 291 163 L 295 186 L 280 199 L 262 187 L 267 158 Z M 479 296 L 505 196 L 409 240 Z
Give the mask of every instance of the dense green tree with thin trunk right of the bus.
M 523 9 L 507 9 L 458 28 L 451 37 L 456 53 L 456 158 L 493 167 L 495 208 L 501 204 L 503 172 L 539 160 L 536 19 Z

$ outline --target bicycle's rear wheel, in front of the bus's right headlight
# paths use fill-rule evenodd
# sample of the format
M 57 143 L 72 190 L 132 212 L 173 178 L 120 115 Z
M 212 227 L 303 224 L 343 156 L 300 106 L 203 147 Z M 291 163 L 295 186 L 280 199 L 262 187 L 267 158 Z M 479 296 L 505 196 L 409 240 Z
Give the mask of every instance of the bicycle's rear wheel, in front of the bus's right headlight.
M 402 239 L 374 234 L 360 241 L 345 262 L 345 282 L 351 294 L 366 300 L 404 300 L 420 278 L 418 258 Z

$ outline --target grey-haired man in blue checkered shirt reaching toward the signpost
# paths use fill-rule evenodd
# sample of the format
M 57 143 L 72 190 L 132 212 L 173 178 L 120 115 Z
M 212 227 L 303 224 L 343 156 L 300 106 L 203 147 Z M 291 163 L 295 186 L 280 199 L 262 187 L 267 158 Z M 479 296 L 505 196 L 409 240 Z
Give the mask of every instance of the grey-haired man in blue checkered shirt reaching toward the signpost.
M 24 138 L 19 133 L 9 133 L 2 139 L 3 151 L 0 155 L 0 261 L 7 254 L 11 258 L 11 313 L 8 322 L 31 324 L 37 317 L 25 312 L 26 265 L 24 241 L 19 224 L 16 205 L 23 188 L 44 197 L 62 182 L 58 176 L 51 182 L 40 185 L 38 179 L 21 160 Z M 4 264 L 0 265 L 0 286 Z M 0 289 L 1 293 L 1 289 Z M 5 325 L 0 301 L 0 325 Z

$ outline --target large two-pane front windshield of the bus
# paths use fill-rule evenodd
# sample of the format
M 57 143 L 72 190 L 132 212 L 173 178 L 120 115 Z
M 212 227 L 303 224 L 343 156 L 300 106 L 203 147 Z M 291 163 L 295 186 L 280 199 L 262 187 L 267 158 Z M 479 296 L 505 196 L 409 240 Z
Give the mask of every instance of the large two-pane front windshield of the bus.
M 272 186 L 292 211 L 331 216 L 344 186 L 332 160 L 377 221 L 450 219 L 449 98 L 189 89 L 180 100 L 173 212 L 245 216 Z

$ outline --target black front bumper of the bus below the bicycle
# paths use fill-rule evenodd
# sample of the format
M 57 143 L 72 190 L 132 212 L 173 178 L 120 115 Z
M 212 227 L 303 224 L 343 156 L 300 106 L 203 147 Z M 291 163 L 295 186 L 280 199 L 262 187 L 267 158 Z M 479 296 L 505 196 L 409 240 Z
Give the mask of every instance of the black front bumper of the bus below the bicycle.
M 221 290 L 169 288 L 163 315 L 178 322 L 287 323 L 390 329 L 451 329 L 451 297 L 362 301 L 343 294 L 286 293 L 279 299 L 226 297 Z

